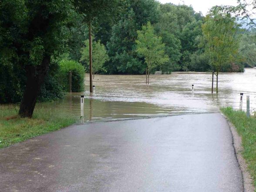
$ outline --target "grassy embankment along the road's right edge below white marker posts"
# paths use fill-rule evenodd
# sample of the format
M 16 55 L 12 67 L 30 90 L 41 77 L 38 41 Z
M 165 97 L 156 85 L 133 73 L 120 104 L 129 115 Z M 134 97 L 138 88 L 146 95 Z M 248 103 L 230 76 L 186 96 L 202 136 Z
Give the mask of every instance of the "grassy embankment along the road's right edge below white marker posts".
M 221 111 L 229 118 L 242 138 L 243 157 L 256 187 L 256 116 L 247 118 L 245 112 L 232 108 L 222 108 Z

